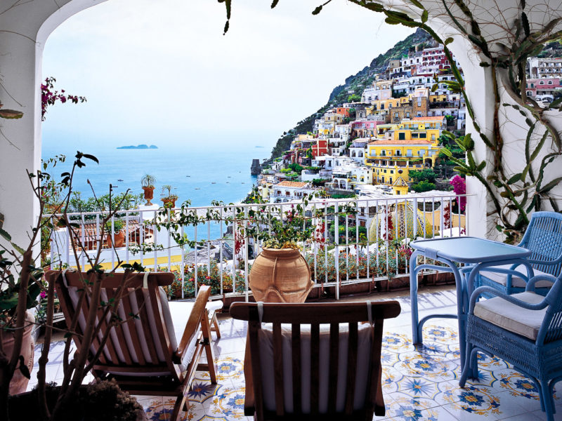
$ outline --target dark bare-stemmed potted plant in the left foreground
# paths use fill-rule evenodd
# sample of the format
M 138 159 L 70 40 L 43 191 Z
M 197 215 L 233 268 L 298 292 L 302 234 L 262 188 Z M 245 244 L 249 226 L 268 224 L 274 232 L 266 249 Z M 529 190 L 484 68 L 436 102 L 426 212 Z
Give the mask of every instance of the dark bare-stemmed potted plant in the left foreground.
M 104 404 L 109 403 L 115 398 L 116 405 L 110 404 L 107 413 L 103 413 L 104 419 L 133 420 L 139 417 L 145 417 L 140 406 L 132 396 L 124 395 L 117 385 L 82 385 L 84 378 L 91 370 L 91 361 L 97 361 L 96 356 L 90 355 L 91 344 L 93 340 L 98 340 L 95 332 L 102 327 L 100 323 L 106 323 L 108 318 L 112 320 L 119 319 L 116 306 L 112 302 L 105 302 L 101 295 L 100 284 L 108 276 L 113 276 L 115 269 L 124 269 L 125 276 L 123 282 L 126 282 L 127 276 L 133 270 L 141 271 L 140 265 L 122 265 L 118 261 L 115 269 L 105 272 L 100 268 L 101 248 L 98 248 L 96 255 L 84 255 L 84 244 L 81 243 L 81 228 L 77 223 L 80 217 L 67 212 L 69 208 L 70 197 L 72 196 L 72 178 L 78 168 L 83 167 L 86 159 L 97 161 L 94 156 L 82 154 L 78 152 L 76 161 L 70 172 L 61 175 L 61 181 L 56 183 L 56 188 L 61 192 L 58 204 L 49 206 L 46 203 L 48 195 L 44 194 L 48 189 L 48 182 L 51 176 L 45 171 L 37 171 L 37 173 L 28 173 L 33 186 L 34 196 L 39 203 L 39 217 L 34 226 L 30 230 L 29 242 L 25 247 L 18 246 L 11 240 L 10 234 L 4 229 L 0 229 L 0 419 L 29 419 L 29 420 L 74 420 L 74 419 L 91 419 L 85 415 L 90 415 L 89 408 L 101 408 Z M 110 193 L 111 195 L 111 193 Z M 98 207 L 102 207 L 103 203 L 95 198 Z M 110 199 L 111 203 L 111 199 Z M 108 221 L 115 218 L 117 209 L 122 206 L 122 201 L 117 203 L 115 209 L 111 208 L 100 221 L 101 232 L 97 241 L 103 241 L 105 237 L 105 227 Z M 48 211 L 46 209 L 49 209 Z M 47 213 L 45 217 L 42 217 Z M 53 312 L 55 307 L 55 286 L 54 283 L 44 285 L 42 275 L 44 268 L 36 264 L 39 261 L 41 252 L 49 242 L 39 241 L 39 236 L 44 235 L 47 229 L 50 234 L 54 229 L 68 229 L 71 255 L 76 256 L 74 267 L 83 274 L 84 288 L 79 292 L 79 300 L 90 300 L 98 305 L 93 306 L 91 314 L 87 315 L 86 324 L 91 326 L 93 330 L 89 334 L 84 333 L 81 336 L 77 349 L 72 349 L 72 333 L 75 329 L 63 329 L 65 333 L 64 341 L 65 351 L 63 355 L 63 380 L 57 387 L 51 387 L 46 382 L 46 366 L 51 350 L 51 339 L 53 335 Z M 38 246 L 39 245 L 39 246 Z M 56 247 L 55 244 L 52 245 Z M 38 250 L 39 248 L 39 250 Z M 53 254 L 56 256 L 57 254 Z M 82 258 L 86 260 L 86 264 L 90 268 L 88 273 L 84 273 Z M 55 258 L 56 259 L 56 258 Z M 62 264 L 56 260 L 50 262 L 50 267 L 61 267 Z M 84 272 L 83 272 L 84 271 Z M 125 284 L 119 286 L 119 290 L 126 290 Z M 46 298 L 44 314 L 41 319 L 35 321 L 34 317 L 27 314 L 27 309 L 37 304 L 37 296 L 41 294 L 42 298 Z M 93 301 L 92 301 L 93 300 Z M 119 301 L 119 300 L 117 300 Z M 116 301 L 116 302 L 117 302 Z M 99 316 L 99 314 L 103 316 Z M 134 317 L 135 315 L 131 315 Z M 27 342 L 27 330 L 31 327 L 39 325 L 44 328 L 44 342 L 39 355 L 39 368 L 37 373 L 37 388 L 32 392 L 24 394 L 15 394 L 21 392 L 25 387 L 20 387 L 18 391 L 14 391 L 12 383 L 19 382 L 18 376 L 30 378 L 30 367 L 26 356 L 27 349 L 31 349 Z M 113 327 L 113 323 L 110 328 Z M 110 333 L 110 330 L 107 331 Z M 119 396 L 118 396 L 119 395 Z M 110 396 L 112 398 L 110 399 Z M 84 405 L 81 402 L 90 401 L 91 406 Z M 72 408 L 72 410 L 69 410 Z M 107 405 L 105 408 L 108 408 Z

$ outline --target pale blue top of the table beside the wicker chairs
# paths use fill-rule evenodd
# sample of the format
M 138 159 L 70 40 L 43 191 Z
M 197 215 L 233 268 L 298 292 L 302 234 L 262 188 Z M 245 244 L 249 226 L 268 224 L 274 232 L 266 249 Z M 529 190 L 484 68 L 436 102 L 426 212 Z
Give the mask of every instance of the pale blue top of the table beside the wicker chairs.
M 459 263 L 519 259 L 526 258 L 531 253 L 527 248 L 471 236 L 416 240 L 410 246 L 428 258 L 445 258 Z

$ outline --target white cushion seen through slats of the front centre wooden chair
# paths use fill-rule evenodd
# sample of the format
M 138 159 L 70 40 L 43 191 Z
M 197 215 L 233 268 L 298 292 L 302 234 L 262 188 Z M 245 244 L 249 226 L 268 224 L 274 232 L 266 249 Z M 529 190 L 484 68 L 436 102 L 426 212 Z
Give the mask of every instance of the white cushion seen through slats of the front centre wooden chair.
M 290 325 L 282 325 L 283 347 L 283 395 L 285 410 L 292 413 L 294 408 L 292 392 L 292 335 Z M 365 393 L 370 359 L 372 328 L 365 323 L 358 327 L 357 370 L 355 377 L 355 396 L 353 408 L 362 408 L 365 403 Z M 263 384 L 263 404 L 267 410 L 275 411 L 275 373 L 273 370 L 273 328 L 270 323 L 263 325 L 259 332 L 261 381 Z M 339 331 L 339 361 L 336 393 L 336 410 L 343 411 L 346 398 L 346 375 L 348 368 L 348 325 L 340 325 Z M 320 368 L 320 391 L 318 396 L 319 412 L 326 413 L 328 409 L 328 367 L 329 367 L 329 325 L 320 325 L 320 352 L 318 354 Z M 365 369 L 361 369 L 365 368 Z M 301 404 L 303 413 L 311 412 L 311 328 L 301 325 Z

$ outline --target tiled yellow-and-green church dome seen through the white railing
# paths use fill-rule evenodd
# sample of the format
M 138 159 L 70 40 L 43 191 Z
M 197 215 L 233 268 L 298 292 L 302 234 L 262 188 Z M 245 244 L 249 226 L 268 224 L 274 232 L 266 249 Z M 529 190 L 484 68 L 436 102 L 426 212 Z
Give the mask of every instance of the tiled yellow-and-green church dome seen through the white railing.
M 417 218 L 417 232 L 414 235 L 414 213 Z M 390 218 L 389 218 L 390 217 Z M 397 222 L 398 218 L 398 222 Z M 386 239 L 386 220 L 391 220 L 391 236 L 389 239 L 396 239 L 398 227 L 398 238 L 414 239 L 417 236 L 430 238 L 433 236 L 431 224 L 426 222 L 424 213 L 415 209 L 410 201 L 401 201 L 379 208 L 377 215 L 371 220 L 369 225 L 369 241 Z M 425 229 L 425 233 L 424 233 Z M 377 235 L 378 234 L 378 235 Z

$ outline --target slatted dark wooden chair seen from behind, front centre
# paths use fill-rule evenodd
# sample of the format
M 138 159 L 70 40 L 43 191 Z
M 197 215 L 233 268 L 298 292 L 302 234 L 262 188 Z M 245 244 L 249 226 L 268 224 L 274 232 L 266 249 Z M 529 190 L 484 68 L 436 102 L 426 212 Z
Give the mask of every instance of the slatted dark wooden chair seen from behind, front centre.
M 233 303 L 230 315 L 249 321 L 245 415 L 259 421 L 384 415 L 382 328 L 398 314 L 396 301 Z

